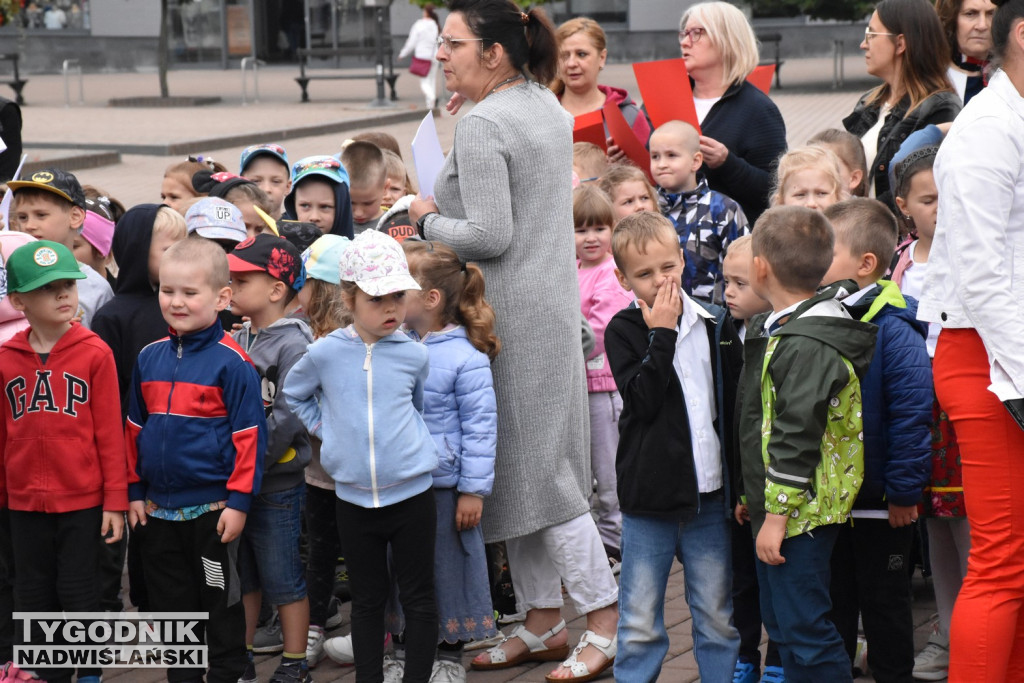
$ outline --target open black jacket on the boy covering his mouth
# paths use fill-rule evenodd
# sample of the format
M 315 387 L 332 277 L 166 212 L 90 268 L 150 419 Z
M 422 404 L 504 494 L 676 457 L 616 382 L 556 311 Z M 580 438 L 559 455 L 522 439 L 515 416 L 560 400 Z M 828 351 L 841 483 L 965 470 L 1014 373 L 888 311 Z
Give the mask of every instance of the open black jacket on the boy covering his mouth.
M 732 418 L 742 348 L 724 309 L 697 305 L 715 316 L 701 318 L 711 346 L 711 357 L 705 361 L 712 364 L 718 409 L 715 428 L 722 445 L 727 499 L 731 499 L 731 479 L 739 476 Z M 650 330 L 634 304 L 611 318 L 604 332 L 604 348 L 623 396 L 615 457 L 620 508 L 627 514 L 685 521 L 696 514 L 699 494 L 683 387 L 672 365 L 676 338 L 675 330 Z

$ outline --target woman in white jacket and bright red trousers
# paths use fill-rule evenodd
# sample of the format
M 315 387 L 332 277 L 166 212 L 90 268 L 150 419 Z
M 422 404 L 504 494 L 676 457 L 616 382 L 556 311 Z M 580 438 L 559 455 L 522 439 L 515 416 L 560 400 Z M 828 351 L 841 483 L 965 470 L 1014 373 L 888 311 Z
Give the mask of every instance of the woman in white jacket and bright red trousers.
M 971 524 L 949 681 L 1024 680 L 1024 0 L 996 0 L 1001 63 L 939 150 L 918 317 L 942 326 L 935 391 L 956 430 Z

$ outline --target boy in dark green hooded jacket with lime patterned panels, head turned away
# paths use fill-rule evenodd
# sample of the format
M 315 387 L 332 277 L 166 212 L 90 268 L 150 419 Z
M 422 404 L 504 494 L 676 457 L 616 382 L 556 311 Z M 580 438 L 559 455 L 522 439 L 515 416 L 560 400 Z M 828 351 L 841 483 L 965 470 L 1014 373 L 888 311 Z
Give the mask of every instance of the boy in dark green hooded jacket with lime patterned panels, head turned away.
M 828 563 L 863 480 L 860 378 L 876 328 L 850 319 L 839 286 L 816 294 L 833 246 L 817 211 L 758 219 L 752 285 L 772 313 L 743 347 L 738 420 L 761 617 L 787 679 L 838 682 L 852 670 L 828 621 Z

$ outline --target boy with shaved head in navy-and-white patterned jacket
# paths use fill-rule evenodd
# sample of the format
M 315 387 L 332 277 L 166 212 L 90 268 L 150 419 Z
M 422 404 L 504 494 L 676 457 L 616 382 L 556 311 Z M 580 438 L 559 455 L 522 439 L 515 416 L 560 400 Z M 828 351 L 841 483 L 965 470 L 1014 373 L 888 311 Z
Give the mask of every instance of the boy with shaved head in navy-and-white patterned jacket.
M 693 126 L 682 121 L 662 124 L 649 144 L 657 206 L 675 226 L 686 259 L 683 290 L 695 299 L 721 305 L 722 260 L 729 243 L 749 231 L 746 216 L 733 200 L 697 177 L 703 155 Z

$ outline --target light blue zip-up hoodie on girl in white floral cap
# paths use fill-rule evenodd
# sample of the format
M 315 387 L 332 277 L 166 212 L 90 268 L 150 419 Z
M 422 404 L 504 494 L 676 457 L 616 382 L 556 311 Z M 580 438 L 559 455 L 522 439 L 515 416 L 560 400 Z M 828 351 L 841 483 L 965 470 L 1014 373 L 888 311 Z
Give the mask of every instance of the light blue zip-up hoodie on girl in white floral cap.
M 437 450 L 423 422 L 427 349 L 402 332 L 367 344 L 350 326 L 309 345 L 285 398 L 313 436 L 341 500 L 394 505 L 430 488 Z

